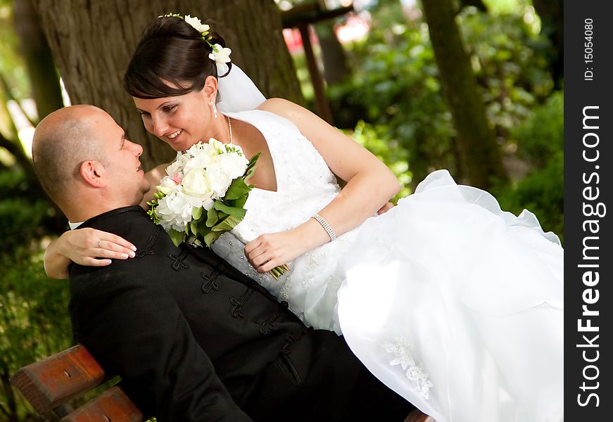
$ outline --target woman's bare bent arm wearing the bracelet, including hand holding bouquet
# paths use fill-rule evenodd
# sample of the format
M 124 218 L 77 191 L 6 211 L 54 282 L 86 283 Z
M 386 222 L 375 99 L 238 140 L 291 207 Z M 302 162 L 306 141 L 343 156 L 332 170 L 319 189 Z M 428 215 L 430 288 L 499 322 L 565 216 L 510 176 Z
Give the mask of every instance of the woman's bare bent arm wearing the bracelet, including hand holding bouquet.
M 296 124 L 330 170 L 347 182 L 341 193 L 319 212 L 337 236 L 384 209 L 389 198 L 400 190 L 398 179 L 383 162 L 309 110 L 280 98 L 267 100 L 258 109 Z M 309 219 L 296 229 L 256 238 L 248 243 L 246 252 L 254 267 L 264 272 L 329 240 L 321 224 Z M 267 263 L 263 265 L 264 262 Z

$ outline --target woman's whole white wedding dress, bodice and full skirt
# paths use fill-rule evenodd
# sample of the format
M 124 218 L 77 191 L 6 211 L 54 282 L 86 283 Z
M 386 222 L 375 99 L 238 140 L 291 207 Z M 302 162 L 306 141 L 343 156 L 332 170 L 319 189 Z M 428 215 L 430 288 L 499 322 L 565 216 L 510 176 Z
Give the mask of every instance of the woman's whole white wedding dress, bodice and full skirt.
M 277 191 L 255 188 L 243 238 L 292 229 L 340 191 L 288 120 L 228 113 L 265 136 Z M 368 195 L 367 192 L 364 195 Z M 437 422 L 563 419 L 563 268 L 557 236 L 438 170 L 379 217 L 258 274 L 232 233 L 213 250 L 305 324 L 343 333 L 377 378 Z

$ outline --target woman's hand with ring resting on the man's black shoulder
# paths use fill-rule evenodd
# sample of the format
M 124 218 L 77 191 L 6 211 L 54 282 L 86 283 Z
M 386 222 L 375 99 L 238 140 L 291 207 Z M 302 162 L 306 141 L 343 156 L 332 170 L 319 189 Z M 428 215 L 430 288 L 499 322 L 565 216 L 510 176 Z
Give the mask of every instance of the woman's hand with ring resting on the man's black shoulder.
M 110 264 L 110 260 L 133 258 L 135 250 L 137 248 L 124 238 L 89 227 L 65 232 L 58 238 L 57 245 L 60 255 L 89 267 L 103 267 Z

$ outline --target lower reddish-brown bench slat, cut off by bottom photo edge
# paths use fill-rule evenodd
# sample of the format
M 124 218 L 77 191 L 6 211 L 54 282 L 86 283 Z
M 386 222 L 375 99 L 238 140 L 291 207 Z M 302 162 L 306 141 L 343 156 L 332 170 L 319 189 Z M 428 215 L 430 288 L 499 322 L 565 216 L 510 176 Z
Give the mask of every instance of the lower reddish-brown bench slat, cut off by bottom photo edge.
M 60 422 L 143 422 L 141 411 L 115 385 L 72 411 Z

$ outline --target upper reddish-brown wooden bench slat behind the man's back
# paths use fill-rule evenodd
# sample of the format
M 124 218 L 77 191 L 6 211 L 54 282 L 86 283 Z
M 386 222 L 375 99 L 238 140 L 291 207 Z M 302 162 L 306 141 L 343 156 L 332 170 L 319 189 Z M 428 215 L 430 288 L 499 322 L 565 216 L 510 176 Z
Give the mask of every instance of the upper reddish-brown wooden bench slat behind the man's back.
M 82 345 L 24 366 L 11 378 L 39 413 L 58 407 L 95 388 L 106 379 L 101 366 Z

